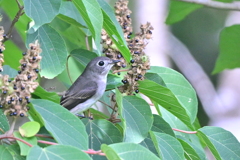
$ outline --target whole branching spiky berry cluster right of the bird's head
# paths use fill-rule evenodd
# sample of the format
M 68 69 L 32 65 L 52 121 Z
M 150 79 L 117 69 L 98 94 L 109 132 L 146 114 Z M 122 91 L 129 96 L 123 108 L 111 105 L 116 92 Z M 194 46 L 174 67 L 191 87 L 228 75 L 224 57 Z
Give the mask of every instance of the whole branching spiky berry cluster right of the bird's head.
M 127 0 L 118 0 L 118 2 L 115 3 L 115 14 L 116 19 L 122 26 L 124 38 L 132 55 L 132 60 L 128 65 L 129 70 L 122 80 L 124 85 L 120 86 L 119 90 L 127 95 L 132 95 L 134 92 L 139 92 L 138 81 L 143 80 L 146 70 L 150 69 L 149 58 L 144 53 L 144 48 L 147 45 L 146 40 L 152 37 L 153 27 L 148 22 L 145 25 L 141 25 L 141 31 L 139 33 L 133 34 L 132 19 L 130 16 L 131 11 L 128 9 Z M 105 53 L 107 57 L 121 60 L 121 62 L 113 67 L 113 70 L 119 70 L 121 67 L 125 68 L 126 62 L 124 58 L 121 53 L 115 49 L 116 47 L 114 47 L 112 40 L 104 30 L 102 31 L 102 42 L 104 48 L 103 53 Z

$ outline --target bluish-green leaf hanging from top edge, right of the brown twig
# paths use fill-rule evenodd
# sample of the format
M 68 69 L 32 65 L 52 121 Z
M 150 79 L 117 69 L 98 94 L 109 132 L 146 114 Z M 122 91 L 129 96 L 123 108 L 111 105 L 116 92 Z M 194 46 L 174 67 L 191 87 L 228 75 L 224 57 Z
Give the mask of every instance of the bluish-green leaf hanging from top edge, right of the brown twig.
M 26 15 L 34 21 L 34 31 L 51 22 L 59 13 L 61 6 L 61 0 L 24 0 L 23 2 Z

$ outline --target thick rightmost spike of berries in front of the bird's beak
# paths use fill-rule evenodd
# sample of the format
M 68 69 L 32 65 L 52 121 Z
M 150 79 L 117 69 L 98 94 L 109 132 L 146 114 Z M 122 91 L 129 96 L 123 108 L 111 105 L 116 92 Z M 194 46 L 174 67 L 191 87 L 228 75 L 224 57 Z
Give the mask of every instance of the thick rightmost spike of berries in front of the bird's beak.
M 147 45 L 146 40 L 152 36 L 153 27 L 148 22 L 141 25 L 141 31 L 135 34 L 135 37 L 128 40 L 128 47 L 132 54 L 130 61 L 130 68 L 127 74 L 122 80 L 123 86 L 119 87 L 122 93 L 132 95 L 139 93 L 138 81 L 144 79 L 144 75 L 148 69 L 150 69 L 149 58 L 144 52 L 144 48 Z

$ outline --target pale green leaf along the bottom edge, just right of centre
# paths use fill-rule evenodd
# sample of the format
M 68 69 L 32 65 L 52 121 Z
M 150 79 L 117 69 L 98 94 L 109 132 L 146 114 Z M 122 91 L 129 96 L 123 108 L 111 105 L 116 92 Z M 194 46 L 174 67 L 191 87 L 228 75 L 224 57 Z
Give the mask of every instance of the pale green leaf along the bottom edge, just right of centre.
M 135 143 L 116 143 L 109 145 L 121 159 L 159 160 L 159 158 L 145 147 Z

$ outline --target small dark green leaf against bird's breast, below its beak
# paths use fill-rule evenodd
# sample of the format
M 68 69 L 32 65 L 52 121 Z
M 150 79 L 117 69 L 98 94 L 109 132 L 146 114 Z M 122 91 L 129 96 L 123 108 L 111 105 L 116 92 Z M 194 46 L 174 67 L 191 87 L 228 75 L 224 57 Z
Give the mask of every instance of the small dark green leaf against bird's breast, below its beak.
M 106 90 L 114 89 L 116 87 L 119 87 L 122 85 L 122 78 L 114 75 L 114 74 L 108 74 L 107 76 L 107 87 Z

